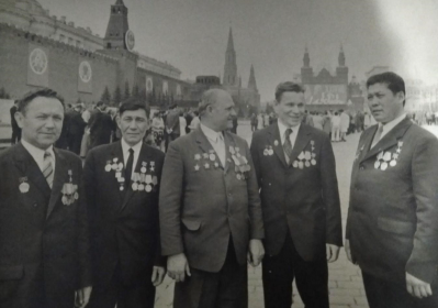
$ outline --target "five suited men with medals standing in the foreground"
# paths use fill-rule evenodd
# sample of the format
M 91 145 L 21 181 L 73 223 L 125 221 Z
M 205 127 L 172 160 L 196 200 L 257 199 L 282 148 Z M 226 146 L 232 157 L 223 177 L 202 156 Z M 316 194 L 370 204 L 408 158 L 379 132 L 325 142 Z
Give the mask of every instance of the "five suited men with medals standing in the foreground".
M 371 308 L 438 307 L 438 140 L 403 111 L 404 82 L 371 77 L 378 125 L 352 167 L 346 252 Z M 0 307 L 154 307 L 166 274 L 173 307 L 248 307 L 247 263 L 262 263 L 265 307 L 329 307 L 327 262 L 342 245 L 335 156 L 302 122 L 302 86 L 276 89 L 278 121 L 245 140 L 224 90 L 204 92 L 200 128 L 146 145 L 136 99 L 116 118 L 122 139 L 92 148 L 82 168 L 54 147 L 64 105 L 27 94 L 14 114 L 19 144 L 0 154 Z

